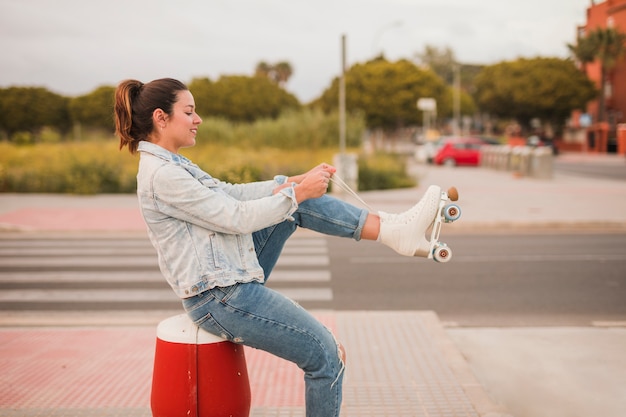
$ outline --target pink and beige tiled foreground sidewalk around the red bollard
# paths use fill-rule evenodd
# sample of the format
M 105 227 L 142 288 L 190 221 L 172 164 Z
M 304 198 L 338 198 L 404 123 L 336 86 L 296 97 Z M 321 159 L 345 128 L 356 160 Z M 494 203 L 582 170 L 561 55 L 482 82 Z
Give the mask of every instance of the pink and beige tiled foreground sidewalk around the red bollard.
M 316 312 L 348 352 L 346 417 L 504 416 L 432 312 Z M 0 328 L 0 415 L 150 415 L 156 326 Z M 295 365 L 246 348 L 251 417 L 304 416 Z

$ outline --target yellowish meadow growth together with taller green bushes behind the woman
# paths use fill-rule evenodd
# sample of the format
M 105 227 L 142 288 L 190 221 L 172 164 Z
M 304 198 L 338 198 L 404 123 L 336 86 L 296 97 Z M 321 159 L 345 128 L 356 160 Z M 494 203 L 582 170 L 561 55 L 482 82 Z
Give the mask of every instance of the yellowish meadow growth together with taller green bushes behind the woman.
M 197 144 L 181 153 L 211 175 L 228 182 L 270 179 L 306 172 L 331 162 L 338 149 L 336 115 L 301 111 L 275 120 L 232 123 L 206 119 Z M 347 121 L 347 145 L 358 149 L 364 132 L 360 117 Z M 93 136 L 93 135 L 92 135 Z M 0 142 L 0 192 L 133 193 L 138 156 L 120 152 L 110 134 L 83 141 L 54 140 L 24 145 Z M 405 164 L 391 155 L 359 157 L 359 189 L 415 185 Z

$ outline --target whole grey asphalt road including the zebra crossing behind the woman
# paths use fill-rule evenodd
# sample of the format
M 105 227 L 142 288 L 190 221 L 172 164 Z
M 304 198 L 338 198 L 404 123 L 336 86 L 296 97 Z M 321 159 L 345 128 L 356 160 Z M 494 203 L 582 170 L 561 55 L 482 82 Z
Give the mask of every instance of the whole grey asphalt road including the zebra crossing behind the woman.
M 433 310 L 458 326 L 626 321 L 626 234 L 446 235 L 445 264 L 294 238 L 268 285 L 305 308 Z M 175 310 L 145 236 L 0 240 L 0 310 Z

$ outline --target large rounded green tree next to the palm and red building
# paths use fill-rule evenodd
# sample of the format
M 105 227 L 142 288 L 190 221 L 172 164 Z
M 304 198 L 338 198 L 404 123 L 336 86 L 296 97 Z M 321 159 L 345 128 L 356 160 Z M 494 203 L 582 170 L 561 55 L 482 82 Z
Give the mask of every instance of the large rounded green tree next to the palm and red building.
M 559 58 L 518 59 L 487 66 L 476 76 L 481 110 L 516 119 L 524 128 L 533 118 L 560 127 L 572 110 L 597 94 L 574 63 Z

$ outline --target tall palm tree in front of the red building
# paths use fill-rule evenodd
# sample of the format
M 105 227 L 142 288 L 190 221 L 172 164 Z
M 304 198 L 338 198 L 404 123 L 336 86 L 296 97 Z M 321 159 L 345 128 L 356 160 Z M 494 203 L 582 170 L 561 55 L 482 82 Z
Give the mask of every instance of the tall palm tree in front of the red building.
M 598 120 L 606 121 L 606 83 L 610 72 L 617 62 L 626 55 L 626 33 L 614 28 L 598 28 L 586 36 L 579 37 L 576 45 L 567 45 L 572 54 L 585 66 L 598 61 L 600 63 L 600 97 L 598 103 Z

